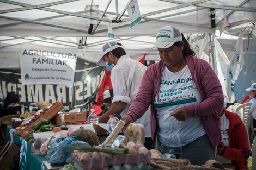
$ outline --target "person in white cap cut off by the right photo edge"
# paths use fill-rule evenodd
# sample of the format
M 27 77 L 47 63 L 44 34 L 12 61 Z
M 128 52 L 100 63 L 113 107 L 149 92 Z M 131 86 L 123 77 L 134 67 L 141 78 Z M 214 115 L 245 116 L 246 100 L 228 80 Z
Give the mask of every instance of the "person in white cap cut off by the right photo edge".
M 247 88 L 246 91 L 249 91 L 249 95 L 251 99 L 249 100 L 249 103 L 252 103 L 249 114 L 252 115 L 253 118 L 253 128 L 256 128 L 256 83 L 253 83 L 251 87 Z M 256 135 L 256 132 L 254 131 L 254 136 Z M 253 136 L 253 138 L 254 138 Z

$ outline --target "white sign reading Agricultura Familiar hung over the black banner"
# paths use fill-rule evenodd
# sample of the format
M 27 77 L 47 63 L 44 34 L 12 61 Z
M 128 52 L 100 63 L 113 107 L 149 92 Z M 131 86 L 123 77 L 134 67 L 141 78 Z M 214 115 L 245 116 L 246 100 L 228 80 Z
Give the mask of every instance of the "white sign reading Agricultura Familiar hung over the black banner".
M 21 83 L 73 86 L 77 49 L 21 46 Z

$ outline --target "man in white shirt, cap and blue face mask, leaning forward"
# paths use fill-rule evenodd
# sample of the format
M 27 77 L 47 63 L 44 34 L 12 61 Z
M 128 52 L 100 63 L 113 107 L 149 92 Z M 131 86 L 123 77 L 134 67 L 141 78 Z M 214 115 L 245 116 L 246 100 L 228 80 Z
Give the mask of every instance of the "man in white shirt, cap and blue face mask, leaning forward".
M 146 66 L 126 54 L 121 43 L 112 41 L 102 46 L 101 58 L 97 65 L 106 66 L 111 71 L 113 86 L 112 106 L 99 118 L 99 123 L 107 123 L 109 115 L 124 116 L 130 108 L 132 100 L 136 97 Z M 144 114 L 145 113 L 145 114 Z M 151 149 L 150 108 L 144 110 L 143 116 L 135 124 L 142 124 L 145 130 L 145 147 Z

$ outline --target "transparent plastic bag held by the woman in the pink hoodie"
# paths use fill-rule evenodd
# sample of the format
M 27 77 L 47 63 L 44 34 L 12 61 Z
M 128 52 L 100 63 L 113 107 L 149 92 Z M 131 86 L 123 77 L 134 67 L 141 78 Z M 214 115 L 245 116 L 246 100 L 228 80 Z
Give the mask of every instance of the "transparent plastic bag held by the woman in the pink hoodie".
M 164 113 L 163 127 L 166 130 L 166 137 L 160 145 L 160 150 L 169 154 L 182 154 L 182 142 L 180 138 L 180 123 L 174 117 L 171 117 L 170 112 Z M 171 147 L 171 143 L 175 143 L 176 147 Z

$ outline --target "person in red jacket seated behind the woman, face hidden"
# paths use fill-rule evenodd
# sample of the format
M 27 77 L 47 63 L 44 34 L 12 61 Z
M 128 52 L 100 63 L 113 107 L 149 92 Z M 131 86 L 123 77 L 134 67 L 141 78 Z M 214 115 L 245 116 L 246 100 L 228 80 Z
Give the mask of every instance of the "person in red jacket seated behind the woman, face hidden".
M 247 169 L 247 159 L 251 153 L 245 124 L 236 113 L 218 110 L 221 118 L 222 140 L 218 144 L 216 161 L 225 168 Z

